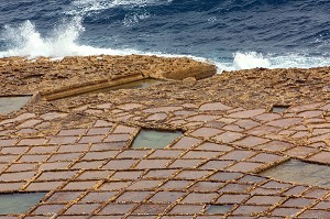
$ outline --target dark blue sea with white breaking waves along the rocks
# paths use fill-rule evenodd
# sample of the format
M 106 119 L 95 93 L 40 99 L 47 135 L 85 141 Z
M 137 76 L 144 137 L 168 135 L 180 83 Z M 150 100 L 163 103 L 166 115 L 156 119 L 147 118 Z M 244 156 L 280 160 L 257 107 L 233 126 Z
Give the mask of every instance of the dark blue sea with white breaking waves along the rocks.
M 2 0 L 0 57 L 187 56 L 222 70 L 330 65 L 329 0 Z

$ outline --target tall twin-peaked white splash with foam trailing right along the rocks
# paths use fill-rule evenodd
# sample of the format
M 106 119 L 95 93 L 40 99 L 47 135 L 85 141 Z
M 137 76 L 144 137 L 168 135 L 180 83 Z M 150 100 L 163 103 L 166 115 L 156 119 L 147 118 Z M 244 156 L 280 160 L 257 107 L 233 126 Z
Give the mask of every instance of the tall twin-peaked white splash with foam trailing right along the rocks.
M 0 57 L 26 56 L 29 58 L 35 58 L 45 56 L 61 58 L 74 55 L 128 55 L 138 53 L 134 50 L 111 50 L 80 45 L 77 43 L 77 40 L 82 31 L 81 18 L 79 17 L 66 24 L 55 28 L 52 31 L 52 37 L 43 37 L 30 21 L 25 21 L 15 28 L 6 26 L 6 41 L 12 45 L 12 47 L 8 51 L 0 52 Z

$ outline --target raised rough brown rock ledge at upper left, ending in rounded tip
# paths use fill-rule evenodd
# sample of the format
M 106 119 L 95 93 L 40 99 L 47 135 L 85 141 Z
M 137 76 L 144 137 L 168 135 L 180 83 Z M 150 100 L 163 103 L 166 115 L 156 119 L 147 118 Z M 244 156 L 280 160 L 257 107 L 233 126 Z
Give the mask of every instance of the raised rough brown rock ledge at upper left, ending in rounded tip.
M 0 59 L 0 94 L 50 91 L 77 84 L 101 83 L 119 77 L 140 75 L 163 79 L 201 79 L 215 75 L 213 65 L 189 58 L 156 56 L 86 56 L 24 59 Z

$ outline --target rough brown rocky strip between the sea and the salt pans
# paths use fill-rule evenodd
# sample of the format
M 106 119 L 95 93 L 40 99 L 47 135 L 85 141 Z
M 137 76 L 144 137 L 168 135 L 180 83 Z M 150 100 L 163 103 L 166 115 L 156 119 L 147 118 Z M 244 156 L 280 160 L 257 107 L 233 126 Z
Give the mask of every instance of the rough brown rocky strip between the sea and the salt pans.
M 180 103 L 187 101 L 221 101 L 246 109 L 273 106 L 295 106 L 315 100 L 330 99 L 328 67 L 310 69 L 264 69 L 223 72 L 216 74 L 216 66 L 189 58 L 164 58 L 156 56 L 87 56 L 25 59 L 9 57 L 0 59 L 0 95 L 35 95 L 43 97 L 64 92 L 88 92 L 100 86 L 111 87 L 144 78 L 165 79 L 157 88 L 143 90 L 118 90 L 98 97 L 117 101 L 151 98 L 157 101 Z M 82 90 L 82 91 L 81 91 Z M 67 94 L 65 94 L 67 92 Z M 170 97 L 166 94 L 170 92 Z M 183 95 L 185 94 L 185 95 Z M 59 94 L 61 97 L 62 94 Z M 96 101 L 96 95 L 64 98 L 53 101 L 57 108 L 78 108 Z M 184 102 L 185 102 L 184 101 Z M 75 103 L 79 102 L 79 103 Z M 46 105 L 44 102 L 44 105 Z M 35 107 L 35 105 L 33 105 Z M 33 108 L 32 107 L 32 108 Z M 47 109 L 47 110 L 52 110 Z M 1 117 L 1 116 L 0 116 Z

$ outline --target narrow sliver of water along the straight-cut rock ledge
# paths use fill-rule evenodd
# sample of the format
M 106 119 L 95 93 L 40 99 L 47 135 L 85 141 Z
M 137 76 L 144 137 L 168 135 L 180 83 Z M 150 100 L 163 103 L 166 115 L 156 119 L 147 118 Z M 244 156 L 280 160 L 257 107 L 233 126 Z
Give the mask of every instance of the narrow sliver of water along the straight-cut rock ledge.
M 132 83 L 127 83 L 123 85 L 118 85 L 118 86 L 112 86 L 112 87 L 94 90 L 90 94 L 109 92 L 111 90 L 120 90 L 120 89 L 138 89 L 138 88 L 144 89 L 144 88 L 147 88 L 153 85 L 160 85 L 162 83 L 164 83 L 164 80 L 148 78 L 148 79 L 142 79 L 142 80 L 136 80 L 136 81 L 132 81 Z

